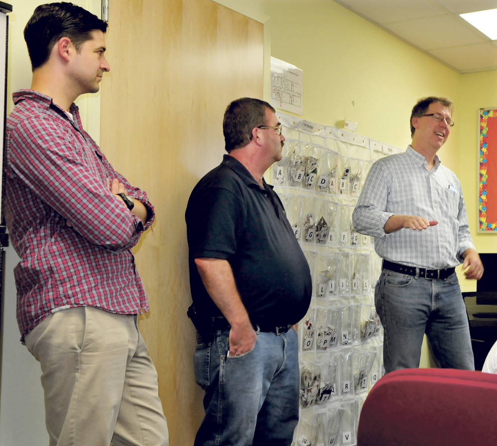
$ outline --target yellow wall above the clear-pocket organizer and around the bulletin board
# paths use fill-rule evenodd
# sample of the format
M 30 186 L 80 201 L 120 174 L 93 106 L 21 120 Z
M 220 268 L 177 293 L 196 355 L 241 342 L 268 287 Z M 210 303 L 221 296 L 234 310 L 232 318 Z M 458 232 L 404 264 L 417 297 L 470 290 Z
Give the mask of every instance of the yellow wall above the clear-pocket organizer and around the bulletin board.
M 337 127 L 347 119 L 357 133 L 405 148 L 416 100 L 451 98 L 456 125 L 439 155 L 461 180 L 477 250 L 497 252 L 495 236 L 476 233 L 478 109 L 497 106 L 497 71 L 461 75 L 330 0 L 216 1 L 268 17 L 271 56 L 303 70 L 305 119 Z M 476 289 L 458 273 L 463 291 Z

